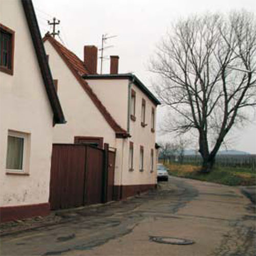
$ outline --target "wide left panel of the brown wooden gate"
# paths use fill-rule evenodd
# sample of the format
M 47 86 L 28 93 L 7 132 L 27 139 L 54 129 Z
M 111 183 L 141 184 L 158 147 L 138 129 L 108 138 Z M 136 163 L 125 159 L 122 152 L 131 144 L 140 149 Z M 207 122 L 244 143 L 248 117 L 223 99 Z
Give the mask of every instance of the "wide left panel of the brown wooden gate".
M 53 144 L 50 180 L 51 209 L 83 205 L 86 146 Z

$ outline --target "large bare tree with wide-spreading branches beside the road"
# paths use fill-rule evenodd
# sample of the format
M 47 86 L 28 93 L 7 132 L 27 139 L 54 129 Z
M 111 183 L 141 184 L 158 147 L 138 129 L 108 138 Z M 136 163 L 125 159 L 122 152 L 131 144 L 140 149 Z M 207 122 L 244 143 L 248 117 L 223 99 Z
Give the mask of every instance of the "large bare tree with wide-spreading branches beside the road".
M 156 93 L 176 113 L 170 131 L 198 133 L 202 172 L 210 172 L 231 127 L 256 105 L 255 55 L 255 17 L 241 11 L 180 20 L 151 61 L 162 78 Z

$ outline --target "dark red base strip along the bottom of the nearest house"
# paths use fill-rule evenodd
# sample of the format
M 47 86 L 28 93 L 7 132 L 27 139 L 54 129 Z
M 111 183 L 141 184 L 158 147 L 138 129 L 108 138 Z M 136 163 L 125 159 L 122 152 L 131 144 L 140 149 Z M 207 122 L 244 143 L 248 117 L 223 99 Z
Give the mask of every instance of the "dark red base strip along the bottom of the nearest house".
M 36 216 L 47 216 L 49 214 L 49 203 L 0 207 L 1 222 L 21 220 Z

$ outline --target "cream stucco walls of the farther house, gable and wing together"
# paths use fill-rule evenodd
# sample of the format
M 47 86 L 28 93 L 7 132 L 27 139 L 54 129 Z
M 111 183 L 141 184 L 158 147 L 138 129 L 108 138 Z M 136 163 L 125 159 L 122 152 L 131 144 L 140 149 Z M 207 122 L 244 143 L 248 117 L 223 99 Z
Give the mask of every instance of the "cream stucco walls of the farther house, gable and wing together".
M 93 100 L 82 88 L 81 81 L 69 67 L 69 59 L 58 52 L 68 53 L 63 46 L 49 38 L 44 42 L 53 78 L 58 80 L 57 94 L 65 113 L 67 124 L 54 127 L 54 143 L 74 143 L 74 137 L 103 137 L 105 143 L 116 148 L 115 185 L 154 185 L 156 184 L 155 132 L 151 131 L 152 108 L 156 113 L 156 104 L 127 77 L 86 79 L 90 88 L 97 95 L 116 123 L 127 133 L 129 138 L 117 138 L 116 133 L 106 118 L 101 114 Z M 56 50 L 57 48 L 57 50 Z M 74 62 L 71 63 L 74 65 Z M 130 94 L 136 93 L 136 121 L 130 118 Z M 141 125 L 141 102 L 145 100 L 145 122 Z M 156 120 L 156 117 L 155 117 Z M 134 168 L 129 169 L 130 141 L 134 145 Z M 139 169 L 140 147 L 143 147 L 143 170 Z M 151 164 L 153 151 L 154 163 Z

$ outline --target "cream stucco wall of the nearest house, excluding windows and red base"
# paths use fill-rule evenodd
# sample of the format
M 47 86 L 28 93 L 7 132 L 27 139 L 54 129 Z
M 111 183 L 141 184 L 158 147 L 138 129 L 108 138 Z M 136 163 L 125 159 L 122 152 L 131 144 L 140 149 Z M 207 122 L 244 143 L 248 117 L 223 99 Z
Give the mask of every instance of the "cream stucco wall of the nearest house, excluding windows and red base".
M 0 23 L 15 31 L 14 74 L 0 72 L 0 205 L 47 203 L 53 114 L 20 1 L 0 1 Z M 6 174 L 8 130 L 29 134 L 29 176 Z

